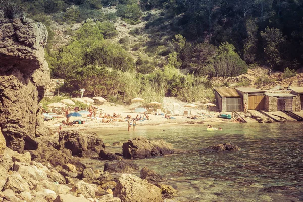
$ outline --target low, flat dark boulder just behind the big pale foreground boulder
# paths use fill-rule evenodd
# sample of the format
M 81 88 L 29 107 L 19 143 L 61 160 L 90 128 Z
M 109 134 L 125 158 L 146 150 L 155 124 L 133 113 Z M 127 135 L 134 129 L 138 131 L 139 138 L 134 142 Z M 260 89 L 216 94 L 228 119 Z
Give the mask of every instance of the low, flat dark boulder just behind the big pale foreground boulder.
M 108 171 L 110 173 L 129 173 L 135 170 L 139 170 L 138 164 L 129 161 L 119 161 L 113 164 L 105 163 L 103 171 Z

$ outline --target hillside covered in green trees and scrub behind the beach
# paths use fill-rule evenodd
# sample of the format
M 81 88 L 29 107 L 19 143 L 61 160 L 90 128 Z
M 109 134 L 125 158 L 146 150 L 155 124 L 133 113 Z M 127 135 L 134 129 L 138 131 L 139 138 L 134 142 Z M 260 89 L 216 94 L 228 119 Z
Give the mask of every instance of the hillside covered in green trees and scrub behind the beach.
M 256 66 L 291 77 L 303 63 L 302 1 L 0 0 L 0 8 L 5 18 L 25 15 L 47 26 L 46 60 L 69 95 L 85 88 L 112 102 L 194 102 L 212 98 L 211 77 Z M 82 26 L 71 29 L 75 23 Z M 118 24 L 133 28 L 119 33 Z M 59 48 L 56 25 L 70 36 Z

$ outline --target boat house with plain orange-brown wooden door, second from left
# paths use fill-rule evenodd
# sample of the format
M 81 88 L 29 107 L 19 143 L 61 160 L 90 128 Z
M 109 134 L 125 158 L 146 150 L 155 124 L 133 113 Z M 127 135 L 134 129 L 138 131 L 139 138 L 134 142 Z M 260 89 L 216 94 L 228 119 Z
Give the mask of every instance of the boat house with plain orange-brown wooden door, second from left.
M 235 88 L 247 103 L 248 110 L 265 110 L 265 92 L 256 88 Z

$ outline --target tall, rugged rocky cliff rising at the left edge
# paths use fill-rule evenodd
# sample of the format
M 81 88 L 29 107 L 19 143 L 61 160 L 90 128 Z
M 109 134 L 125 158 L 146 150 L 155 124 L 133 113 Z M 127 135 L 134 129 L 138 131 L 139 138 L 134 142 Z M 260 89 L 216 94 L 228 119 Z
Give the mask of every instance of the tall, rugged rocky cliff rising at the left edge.
M 0 128 L 9 148 L 35 149 L 49 134 L 39 112 L 50 72 L 44 59 L 46 27 L 25 17 L 0 19 Z

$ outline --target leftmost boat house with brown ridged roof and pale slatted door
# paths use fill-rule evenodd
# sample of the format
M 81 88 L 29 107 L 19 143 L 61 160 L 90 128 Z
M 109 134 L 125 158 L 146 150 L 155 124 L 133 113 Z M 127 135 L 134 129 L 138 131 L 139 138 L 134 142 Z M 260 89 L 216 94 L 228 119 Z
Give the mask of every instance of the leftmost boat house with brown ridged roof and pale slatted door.
M 243 97 L 234 88 L 214 88 L 220 112 L 243 111 Z

